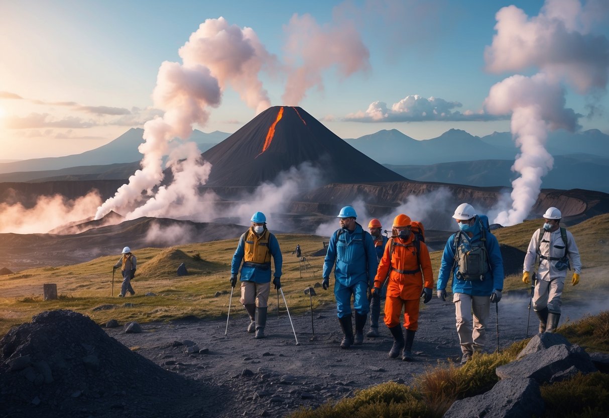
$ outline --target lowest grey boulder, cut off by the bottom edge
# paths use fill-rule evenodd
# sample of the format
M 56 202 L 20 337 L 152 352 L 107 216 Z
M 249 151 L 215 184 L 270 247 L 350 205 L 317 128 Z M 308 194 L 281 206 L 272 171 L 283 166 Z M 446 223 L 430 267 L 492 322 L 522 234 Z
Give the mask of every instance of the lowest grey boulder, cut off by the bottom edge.
M 521 418 L 544 411 L 539 384 L 533 379 L 500 380 L 493 389 L 457 400 L 443 418 Z

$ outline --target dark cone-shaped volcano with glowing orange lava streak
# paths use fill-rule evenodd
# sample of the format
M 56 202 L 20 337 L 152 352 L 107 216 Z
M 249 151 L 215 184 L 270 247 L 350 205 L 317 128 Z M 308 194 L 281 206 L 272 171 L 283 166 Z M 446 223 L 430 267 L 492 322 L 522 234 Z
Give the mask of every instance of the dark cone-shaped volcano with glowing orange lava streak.
M 257 186 L 305 161 L 329 183 L 406 180 L 340 139 L 300 107 L 274 106 L 203 153 L 208 186 Z

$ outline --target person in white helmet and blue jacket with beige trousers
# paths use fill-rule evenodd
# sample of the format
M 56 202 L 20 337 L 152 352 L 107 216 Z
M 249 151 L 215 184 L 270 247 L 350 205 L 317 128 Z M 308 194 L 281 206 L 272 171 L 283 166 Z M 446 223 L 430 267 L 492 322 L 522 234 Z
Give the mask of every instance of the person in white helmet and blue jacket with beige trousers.
M 457 221 L 459 231 L 448 238 L 444 247 L 437 294 L 446 300 L 446 285 L 452 274 L 452 302 L 463 353 L 461 364 L 465 364 L 474 352 L 484 349 L 490 303 L 501 300 L 503 259 L 486 216 L 477 215 L 470 204 L 464 203 L 452 218 Z

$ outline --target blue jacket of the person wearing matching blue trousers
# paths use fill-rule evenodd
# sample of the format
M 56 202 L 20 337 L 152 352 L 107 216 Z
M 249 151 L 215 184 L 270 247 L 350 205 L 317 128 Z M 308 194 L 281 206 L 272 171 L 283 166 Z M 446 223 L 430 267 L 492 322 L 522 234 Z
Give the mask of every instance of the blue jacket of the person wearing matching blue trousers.
M 339 231 L 342 231 L 340 236 Z M 353 232 L 346 229 L 334 231 L 323 261 L 322 277 L 330 276 L 335 262 L 334 277 L 341 285 L 351 287 L 357 282 L 373 285 L 378 266 L 375 244 L 370 233 L 364 232 L 362 225 L 356 224 Z

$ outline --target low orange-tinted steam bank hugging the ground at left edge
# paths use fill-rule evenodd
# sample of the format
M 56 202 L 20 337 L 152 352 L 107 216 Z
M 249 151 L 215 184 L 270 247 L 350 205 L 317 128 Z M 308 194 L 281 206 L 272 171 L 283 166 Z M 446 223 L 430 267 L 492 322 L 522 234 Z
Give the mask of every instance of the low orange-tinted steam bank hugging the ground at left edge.
M 70 222 L 83 221 L 100 205 L 96 191 L 74 200 L 56 194 L 40 196 L 32 208 L 0 204 L 0 233 L 46 233 Z

